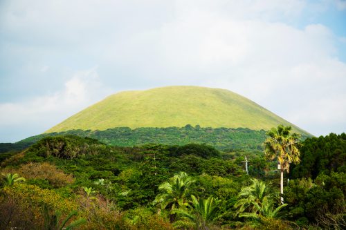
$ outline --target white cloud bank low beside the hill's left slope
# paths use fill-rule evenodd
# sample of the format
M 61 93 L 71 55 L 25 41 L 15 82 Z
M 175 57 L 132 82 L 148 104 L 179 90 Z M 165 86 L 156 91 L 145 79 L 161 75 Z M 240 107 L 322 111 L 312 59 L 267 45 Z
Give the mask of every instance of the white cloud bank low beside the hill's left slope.
M 0 104 L 0 126 L 30 124 L 44 128 L 43 132 L 102 99 L 109 94 L 105 89 L 100 83 L 97 68 L 79 71 L 66 82 L 64 90 L 25 102 Z

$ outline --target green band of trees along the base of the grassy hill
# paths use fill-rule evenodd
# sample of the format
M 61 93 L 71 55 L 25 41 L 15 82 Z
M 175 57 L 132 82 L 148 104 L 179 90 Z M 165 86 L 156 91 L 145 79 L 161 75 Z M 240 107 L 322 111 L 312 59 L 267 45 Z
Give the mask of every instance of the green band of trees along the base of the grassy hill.
M 169 128 L 109 128 L 105 131 L 72 130 L 62 133 L 44 133 L 28 137 L 16 144 L 29 146 L 46 136 L 78 135 L 100 140 L 112 146 L 141 146 L 143 144 L 184 145 L 190 143 L 208 144 L 222 151 L 262 151 L 266 131 L 248 128 L 201 128 L 200 126 Z M 1 144 L 0 144 L 1 148 Z

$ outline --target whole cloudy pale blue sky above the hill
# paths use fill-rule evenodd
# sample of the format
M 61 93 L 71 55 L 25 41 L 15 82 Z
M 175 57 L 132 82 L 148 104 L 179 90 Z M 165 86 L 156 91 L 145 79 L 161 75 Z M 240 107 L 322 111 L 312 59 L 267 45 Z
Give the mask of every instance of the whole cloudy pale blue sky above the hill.
M 122 90 L 225 88 L 346 131 L 345 0 L 0 0 L 0 142 Z

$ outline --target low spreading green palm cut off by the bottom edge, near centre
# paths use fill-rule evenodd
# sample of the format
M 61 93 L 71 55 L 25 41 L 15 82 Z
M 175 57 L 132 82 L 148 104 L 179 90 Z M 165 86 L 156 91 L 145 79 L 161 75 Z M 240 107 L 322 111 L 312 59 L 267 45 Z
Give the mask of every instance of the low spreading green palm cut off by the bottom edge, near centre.
M 221 200 L 215 200 L 210 196 L 208 199 L 204 200 L 191 195 L 192 209 L 190 212 L 184 209 L 176 209 L 174 213 L 183 218 L 185 221 L 175 222 L 176 227 L 181 227 L 182 225 L 187 225 L 193 227 L 194 229 L 210 229 L 210 225 L 215 222 L 220 216 L 217 216 L 217 209 L 219 208 L 219 202 Z

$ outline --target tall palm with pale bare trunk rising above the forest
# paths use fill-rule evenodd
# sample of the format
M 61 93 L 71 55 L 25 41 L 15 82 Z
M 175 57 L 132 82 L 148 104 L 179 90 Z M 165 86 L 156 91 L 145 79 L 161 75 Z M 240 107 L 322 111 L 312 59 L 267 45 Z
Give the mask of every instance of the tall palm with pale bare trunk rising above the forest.
M 268 137 L 264 141 L 264 154 L 267 160 L 277 158 L 280 169 L 280 193 L 281 202 L 284 203 L 284 171 L 289 172 L 289 164 L 292 162 L 299 164 L 300 151 L 298 149 L 300 134 L 291 133 L 291 126 L 283 126 L 280 124 L 277 128 L 271 128 L 266 133 Z

